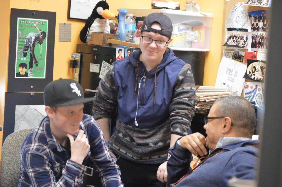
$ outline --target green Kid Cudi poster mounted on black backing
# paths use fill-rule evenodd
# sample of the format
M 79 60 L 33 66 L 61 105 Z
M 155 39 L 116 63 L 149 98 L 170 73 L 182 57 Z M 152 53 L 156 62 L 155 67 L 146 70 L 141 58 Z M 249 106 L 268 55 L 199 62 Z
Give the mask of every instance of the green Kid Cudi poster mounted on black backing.
M 11 8 L 8 92 L 40 92 L 53 80 L 55 23 L 55 12 Z

